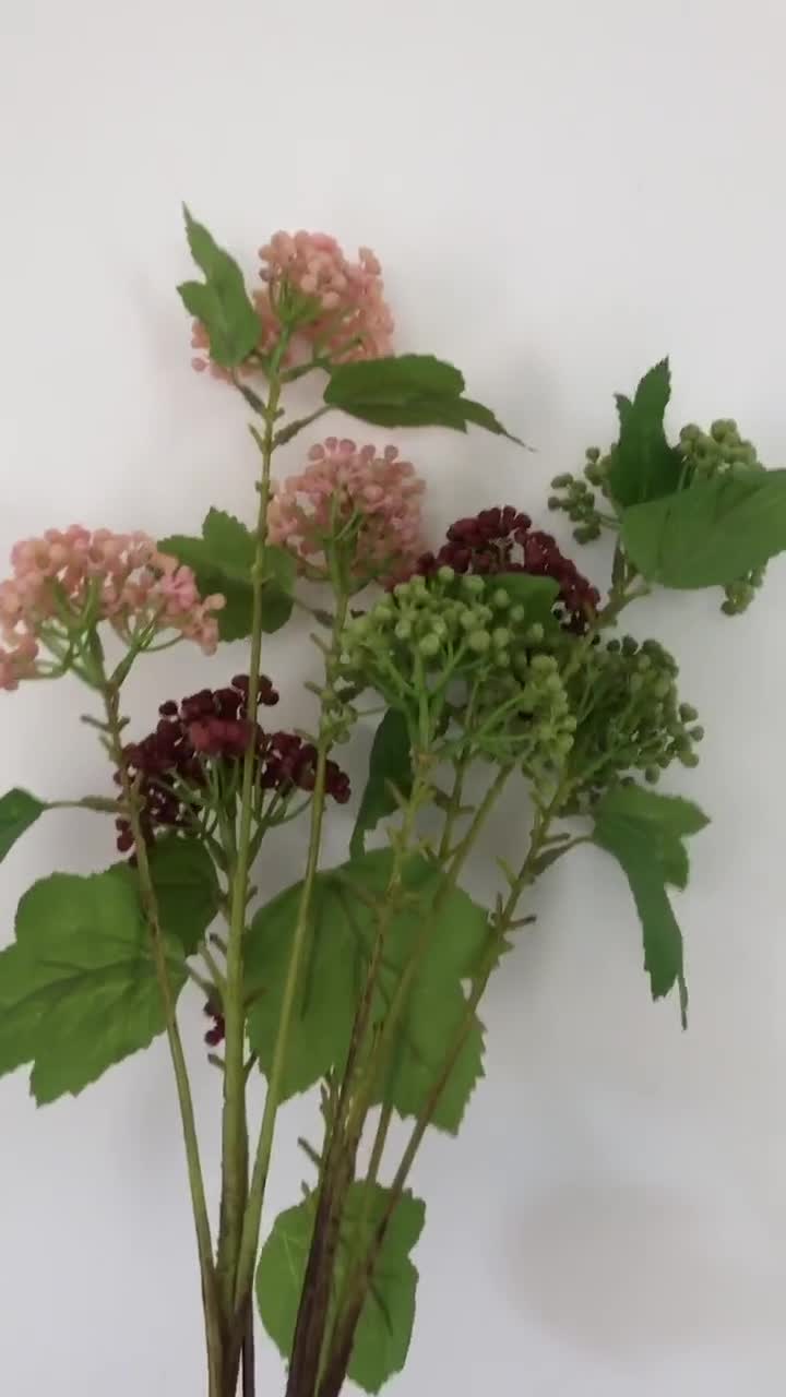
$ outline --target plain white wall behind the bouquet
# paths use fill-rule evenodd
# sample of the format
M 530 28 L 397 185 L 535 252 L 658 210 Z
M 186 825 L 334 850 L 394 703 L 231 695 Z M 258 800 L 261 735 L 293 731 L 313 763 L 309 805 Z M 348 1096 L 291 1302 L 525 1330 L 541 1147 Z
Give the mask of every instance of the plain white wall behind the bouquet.
M 74 520 L 248 517 L 243 414 L 190 372 L 173 295 L 183 197 L 249 271 L 278 226 L 373 246 L 400 346 L 455 359 L 538 447 L 420 434 L 435 528 L 508 499 L 538 511 L 548 476 L 610 440 L 613 391 L 664 352 L 676 425 L 736 415 L 785 462 L 780 0 L 1 0 L 0 20 L 3 556 Z M 603 578 L 606 555 L 585 556 Z M 610 863 L 544 884 L 491 993 L 490 1081 L 459 1144 L 429 1141 L 417 1169 L 429 1222 L 397 1397 L 785 1390 L 785 602 L 773 566 L 745 619 L 702 597 L 639 615 L 680 651 L 709 732 L 683 782 L 713 814 L 678 909 L 691 1028 L 649 1003 Z M 236 658 L 151 661 L 137 731 Z M 267 662 L 302 718 L 303 647 Z M 3 697 L 0 785 L 102 789 L 83 707 L 67 683 Z M 492 844 L 517 838 L 509 819 Z M 284 879 L 296 848 L 281 855 Z M 42 821 L 3 866 L 0 939 L 34 877 L 110 856 L 98 817 Z M 203 1030 L 194 1002 L 215 1192 Z M 281 1119 L 276 1208 L 296 1197 L 306 1118 Z M 24 1074 L 4 1080 L 0 1132 L 3 1389 L 201 1393 L 164 1048 L 39 1113 Z M 260 1348 L 260 1393 L 278 1393 Z

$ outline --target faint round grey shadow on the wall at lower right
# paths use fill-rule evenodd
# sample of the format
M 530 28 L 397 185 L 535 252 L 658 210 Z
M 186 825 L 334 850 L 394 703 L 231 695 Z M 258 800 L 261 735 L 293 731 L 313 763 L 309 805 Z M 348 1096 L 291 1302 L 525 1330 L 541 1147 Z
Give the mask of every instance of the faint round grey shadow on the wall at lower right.
M 666 1189 L 564 1186 L 506 1228 L 512 1303 L 565 1341 L 622 1359 L 779 1337 L 786 1264 L 719 1245 L 717 1214 Z

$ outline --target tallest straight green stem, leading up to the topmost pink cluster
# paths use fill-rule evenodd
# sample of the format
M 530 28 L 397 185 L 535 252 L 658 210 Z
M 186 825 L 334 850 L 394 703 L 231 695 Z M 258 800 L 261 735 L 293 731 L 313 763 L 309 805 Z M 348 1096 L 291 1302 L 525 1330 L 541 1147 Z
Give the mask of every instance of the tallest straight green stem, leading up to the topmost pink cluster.
M 243 757 L 241 814 L 236 859 L 232 876 L 229 936 L 227 942 L 225 1073 L 221 1155 L 221 1225 L 218 1239 L 218 1275 L 227 1316 L 235 1306 L 235 1280 L 248 1190 L 248 1126 L 245 1062 L 245 983 L 243 937 L 249 898 L 250 847 L 255 807 L 256 743 L 255 725 L 259 705 L 259 668 L 262 659 L 264 559 L 267 548 L 267 504 L 270 467 L 274 450 L 274 423 L 281 395 L 277 376 L 270 380 L 264 411 L 264 433 L 256 434 L 262 450 L 256 550 L 252 569 L 252 633 L 246 715 L 252 736 Z

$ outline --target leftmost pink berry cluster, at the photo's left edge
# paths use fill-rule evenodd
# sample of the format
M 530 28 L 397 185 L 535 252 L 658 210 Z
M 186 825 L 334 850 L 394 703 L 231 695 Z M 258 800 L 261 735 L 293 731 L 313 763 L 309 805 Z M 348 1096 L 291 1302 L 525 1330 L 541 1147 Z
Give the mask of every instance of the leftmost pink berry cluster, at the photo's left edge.
M 173 630 L 206 654 L 218 643 L 214 612 L 224 598 L 201 598 L 190 567 L 159 553 L 147 534 L 52 528 L 15 543 L 11 564 L 13 577 L 0 583 L 0 689 L 43 672 L 36 659 L 48 634 L 64 640 L 99 620 L 124 640 Z

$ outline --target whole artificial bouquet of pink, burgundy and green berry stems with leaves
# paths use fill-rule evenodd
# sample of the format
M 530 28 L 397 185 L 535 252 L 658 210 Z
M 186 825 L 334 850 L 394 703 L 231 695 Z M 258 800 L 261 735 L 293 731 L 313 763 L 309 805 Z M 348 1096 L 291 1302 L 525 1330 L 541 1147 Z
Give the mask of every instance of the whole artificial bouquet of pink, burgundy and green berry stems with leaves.
M 786 472 L 768 471 L 734 422 L 664 430 L 669 365 L 617 398 L 617 434 L 558 475 L 548 507 L 576 543 L 608 536 L 589 581 L 529 513 L 531 499 L 424 538 L 424 478 L 385 436 L 446 427 L 509 436 L 457 369 L 394 355 L 376 257 L 333 237 L 277 233 L 249 293 L 238 264 L 186 211 L 200 279 L 180 298 L 194 367 L 236 391 L 259 447 L 249 521 L 211 509 L 201 536 L 152 539 L 73 525 L 15 545 L 0 584 L 0 687 L 73 675 L 108 757 L 106 788 L 0 799 L 0 859 L 67 803 L 116 824 L 117 859 L 55 872 L 22 897 L 0 951 L 0 1073 L 31 1066 L 39 1105 L 78 1094 L 165 1034 L 185 1140 L 210 1397 L 255 1390 L 255 1313 L 287 1362 L 287 1397 L 378 1391 L 407 1358 L 425 1221 L 418 1147 L 457 1133 L 483 1076 L 490 978 L 533 921 L 536 879 L 594 844 L 628 880 L 652 995 L 688 993 L 670 888 L 706 816 L 664 793 L 698 761 L 702 728 L 657 638 L 627 633 L 655 588 L 719 587 L 743 612 L 786 548 Z M 288 390 L 313 388 L 305 416 Z M 334 412 L 378 440 L 315 443 Z M 383 437 L 380 441 L 379 437 Z M 301 468 L 276 474 L 295 441 Z M 522 450 L 510 436 L 510 450 Z M 526 479 L 526 472 L 523 472 Z M 524 506 L 527 513 L 524 511 Z M 277 726 L 281 678 L 266 636 L 306 616 L 310 731 Z M 622 629 L 625 624 L 625 630 Z M 631 619 L 631 627 L 634 622 Z M 246 641 L 243 672 L 224 641 Z M 151 731 L 126 715 L 133 666 L 175 644 L 211 659 L 206 687 L 165 698 Z M 341 749 L 375 725 L 368 777 L 350 789 Z M 513 862 L 488 905 L 477 840 L 517 792 Z M 324 826 L 352 802 L 344 862 Z M 302 876 L 274 897 L 266 837 L 288 826 Z M 270 859 L 270 862 L 266 862 Z M 557 868 L 558 865 L 558 868 Z M 180 995 L 207 1011 L 189 1066 Z M 192 1055 L 193 1056 L 193 1055 Z M 206 1197 L 190 1073 L 222 1092 L 221 1197 Z M 264 1080 L 259 1132 L 248 1092 Z M 266 1214 L 281 1105 L 312 1091 L 313 1140 L 291 1206 Z M 408 1132 L 393 1148 L 399 1119 Z

